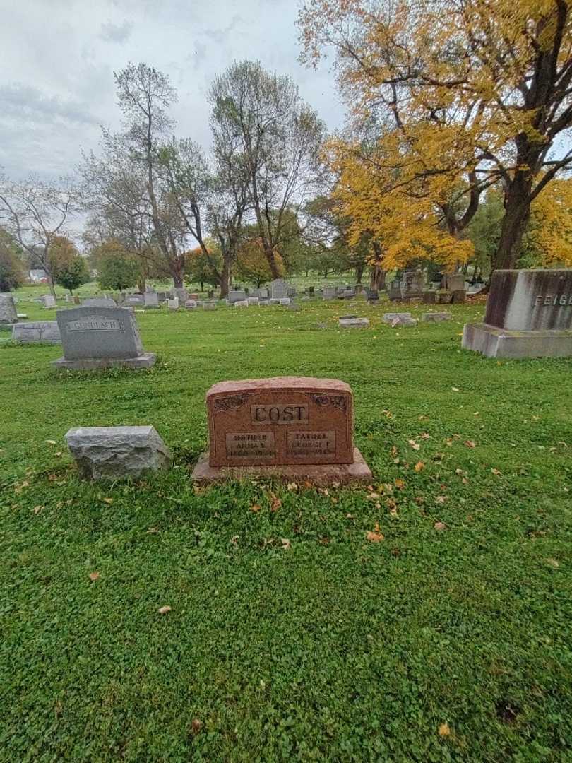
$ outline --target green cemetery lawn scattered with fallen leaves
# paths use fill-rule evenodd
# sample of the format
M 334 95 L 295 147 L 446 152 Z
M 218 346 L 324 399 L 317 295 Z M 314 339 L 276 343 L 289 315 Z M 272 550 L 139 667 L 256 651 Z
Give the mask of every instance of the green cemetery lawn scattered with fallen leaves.
M 137 313 L 149 372 L 0 334 L 2 761 L 572 760 L 572 362 L 386 309 Z M 352 386 L 373 490 L 194 490 L 207 388 L 291 374 Z M 171 472 L 79 480 L 70 427 L 148 423 Z

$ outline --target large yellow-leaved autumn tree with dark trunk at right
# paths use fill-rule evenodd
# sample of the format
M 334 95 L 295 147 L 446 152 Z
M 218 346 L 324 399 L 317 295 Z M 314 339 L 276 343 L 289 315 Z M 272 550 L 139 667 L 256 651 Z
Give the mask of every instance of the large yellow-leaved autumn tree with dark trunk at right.
M 502 183 L 493 268 L 514 266 L 533 202 L 572 163 L 558 140 L 572 125 L 570 0 L 311 0 L 300 30 L 305 62 L 336 53 L 356 136 L 335 152 L 347 179 L 361 156 L 389 208 L 410 204 L 417 226 L 426 195 L 421 219 L 452 237 Z

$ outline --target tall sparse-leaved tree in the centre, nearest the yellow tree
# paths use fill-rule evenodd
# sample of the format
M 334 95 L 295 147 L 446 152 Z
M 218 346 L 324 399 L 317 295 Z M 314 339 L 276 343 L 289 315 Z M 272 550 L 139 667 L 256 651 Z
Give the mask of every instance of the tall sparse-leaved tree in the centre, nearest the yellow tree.
M 320 186 L 325 127 L 288 76 L 243 61 L 218 76 L 209 93 L 215 143 L 233 135 L 249 177 L 249 203 L 272 276 L 282 243 L 284 213 L 294 212 Z

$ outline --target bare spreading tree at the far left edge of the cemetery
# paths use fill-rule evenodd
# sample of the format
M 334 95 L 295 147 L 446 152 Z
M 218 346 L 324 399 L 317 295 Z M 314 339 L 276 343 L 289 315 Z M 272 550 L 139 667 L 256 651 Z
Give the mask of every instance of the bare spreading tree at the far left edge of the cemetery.
M 69 218 L 80 209 L 81 192 L 70 178 L 51 184 L 34 176 L 21 182 L 0 176 L 0 225 L 46 271 L 54 297 L 50 250 L 54 240 L 69 233 Z

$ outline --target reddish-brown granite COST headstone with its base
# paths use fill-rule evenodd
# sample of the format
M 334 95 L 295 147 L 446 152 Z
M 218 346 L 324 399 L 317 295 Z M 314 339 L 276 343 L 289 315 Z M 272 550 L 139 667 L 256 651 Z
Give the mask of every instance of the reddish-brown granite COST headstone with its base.
M 353 444 L 353 397 L 343 381 L 222 381 L 206 402 L 210 450 L 194 468 L 199 483 L 260 476 L 315 485 L 371 480 Z

